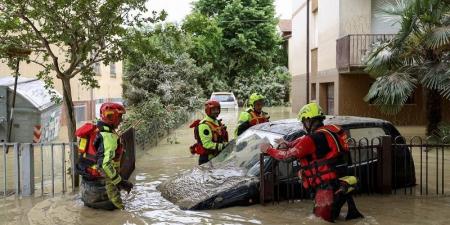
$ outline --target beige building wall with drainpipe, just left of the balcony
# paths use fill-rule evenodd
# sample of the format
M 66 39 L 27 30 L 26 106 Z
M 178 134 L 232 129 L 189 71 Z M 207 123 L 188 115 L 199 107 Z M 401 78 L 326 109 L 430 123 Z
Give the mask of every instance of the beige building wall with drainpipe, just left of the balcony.
M 311 1 L 310 4 L 312 4 Z M 318 0 L 317 11 L 310 6 L 310 100 L 326 107 L 324 84 L 334 83 L 334 97 L 338 101 L 338 72 L 336 70 L 336 39 L 339 36 L 340 20 L 337 0 Z M 317 55 L 313 59 L 312 56 Z M 289 71 L 292 74 L 291 105 L 297 112 L 306 104 L 306 0 L 293 0 L 292 37 L 289 39 Z M 301 83 L 300 83 L 301 82 Z M 320 88 L 322 87 L 322 88 Z M 315 93 L 311 93 L 315 90 Z M 335 104 L 332 111 L 338 112 Z

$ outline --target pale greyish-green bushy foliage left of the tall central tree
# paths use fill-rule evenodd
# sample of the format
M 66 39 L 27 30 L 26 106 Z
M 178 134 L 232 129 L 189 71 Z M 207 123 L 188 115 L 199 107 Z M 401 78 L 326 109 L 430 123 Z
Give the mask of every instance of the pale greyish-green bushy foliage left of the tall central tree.
M 201 106 L 197 79 L 207 68 L 186 53 L 191 39 L 173 24 L 130 29 L 129 34 L 123 48 L 128 56 L 123 97 L 132 108 L 128 123 L 142 121 L 136 129 L 143 141 L 179 126 Z

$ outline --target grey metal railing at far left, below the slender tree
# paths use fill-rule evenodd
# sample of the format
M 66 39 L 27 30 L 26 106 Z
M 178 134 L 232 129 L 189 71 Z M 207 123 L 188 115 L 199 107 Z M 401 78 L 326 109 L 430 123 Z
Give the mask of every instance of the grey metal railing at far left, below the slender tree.
M 39 189 L 41 195 L 49 192 L 54 196 L 56 189 L 65 193 L 68 175 L 71 189 L 75 190 L 75 143 L 2 143 L 0 147 L 3 156 L 1 196 L 31 196 Z M 13 151 L 9 151 L 10 148 Z M 69 172 L 67 168 L 70 168 Z M 36 188 L 35 177 L 40 188 Z

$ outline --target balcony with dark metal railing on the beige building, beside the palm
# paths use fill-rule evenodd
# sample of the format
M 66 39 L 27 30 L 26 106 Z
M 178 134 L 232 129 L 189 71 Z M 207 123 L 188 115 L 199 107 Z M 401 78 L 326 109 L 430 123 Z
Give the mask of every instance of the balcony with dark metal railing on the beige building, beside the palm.
M 373 44 L 394 38 L 395 34 L 350 34 L 337 39 L 336 67 L 340 74 L 364 73 L 362 63 Z

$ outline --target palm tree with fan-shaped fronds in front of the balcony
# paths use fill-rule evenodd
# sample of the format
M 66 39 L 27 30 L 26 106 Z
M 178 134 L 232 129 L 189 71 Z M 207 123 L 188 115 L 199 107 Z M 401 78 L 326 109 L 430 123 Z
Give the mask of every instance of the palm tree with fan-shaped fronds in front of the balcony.
M 368 55 L 376 80 L 365 97 L 388 114 L 400 111 L 417 87 L 426 95 L 427 134 L 441 122 L 442 97 L 450 99 L 450 0 L 397 0 L 377 12 L 400 30 Z

